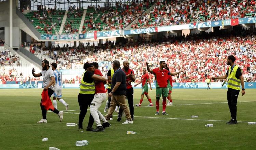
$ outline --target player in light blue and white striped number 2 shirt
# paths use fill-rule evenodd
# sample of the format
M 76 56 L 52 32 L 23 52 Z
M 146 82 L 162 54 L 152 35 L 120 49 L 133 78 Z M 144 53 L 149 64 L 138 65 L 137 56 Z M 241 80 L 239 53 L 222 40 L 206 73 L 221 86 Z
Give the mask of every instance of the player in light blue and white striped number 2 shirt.
M 66 111 L 69 109 L 69 104 L 67 104 L 63 99 L 62 99 L 62 75 L 61 73 L 56 69 L 57 64 L 53 62 L 52 64 L 52 70 L 54 73 L 54 78 L 55 78 L 55 85 L 54 85 L 54 93 L 53 93 L 53 106 L 54 108 L 57 109 L 57 101 L 56 98 L 59 102 L 61 102 L 65 108 Z

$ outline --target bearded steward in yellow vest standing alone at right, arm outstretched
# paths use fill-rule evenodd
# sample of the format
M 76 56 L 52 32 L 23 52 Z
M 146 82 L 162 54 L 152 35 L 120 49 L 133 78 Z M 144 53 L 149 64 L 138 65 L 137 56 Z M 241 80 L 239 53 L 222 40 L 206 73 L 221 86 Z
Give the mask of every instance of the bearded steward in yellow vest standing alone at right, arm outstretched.
M 234 64 L 235 61 L 236 58 L 233 55 L 228 56 L 227 65 L 230 66 L 226 75 L 220 77 L 212 77 L 213 80 L 228 78 L 227 99 L 228 107 L 231 113 L 231 120 L 228 121 L 227 124 L 237 124 L 237 98 L 240 91 L 240 84 L 242 85 L 242 95 L 245 94 L 242 71 L 237 65 Z

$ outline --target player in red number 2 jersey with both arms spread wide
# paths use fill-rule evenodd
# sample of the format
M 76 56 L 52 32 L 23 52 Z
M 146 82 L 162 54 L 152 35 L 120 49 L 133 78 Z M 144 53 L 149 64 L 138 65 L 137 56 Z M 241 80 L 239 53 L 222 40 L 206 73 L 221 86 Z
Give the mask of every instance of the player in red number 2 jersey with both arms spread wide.
M 174 75 L 177 75 L 185 70 L 171 73 L 168 70 L 164 69 L 166 66 L 165 61 L 160 61 L 160 63 L 159 63 L 160 67 L 155 68 L 153 70 L 150 70 L 148 62 L 146 62 L 146 64 L 147 64 L 147 71 L 150 72 L 151 74 L 154 74 L 155 78 L 156 78 L 156 114 L 155 115 L 159 115 L 159 100 L 160 100 L 161 96 L 163 96 L 162 115 L 168 115 L 165 112 L 166 97 L 168 97 L 167 79 L 168 79 L 169 75 L 174 76 Z

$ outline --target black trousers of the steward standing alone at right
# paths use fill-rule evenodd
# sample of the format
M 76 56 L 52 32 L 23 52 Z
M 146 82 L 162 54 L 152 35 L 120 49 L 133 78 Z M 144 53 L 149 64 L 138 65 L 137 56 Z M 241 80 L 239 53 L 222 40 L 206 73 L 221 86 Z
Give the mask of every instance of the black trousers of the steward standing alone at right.
M 234 90 L 228 88 L 227 99 L 228 99 L 228 107 L 230 110 L 231 118 L 237 120 L 237 98 L 239 95 L 239 90 Z

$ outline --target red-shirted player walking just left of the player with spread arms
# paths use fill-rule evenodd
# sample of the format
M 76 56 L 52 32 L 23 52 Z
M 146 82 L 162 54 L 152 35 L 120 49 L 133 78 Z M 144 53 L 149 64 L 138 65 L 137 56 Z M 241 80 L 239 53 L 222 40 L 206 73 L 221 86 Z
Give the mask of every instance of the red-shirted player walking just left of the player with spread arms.
M 138 84 L 142 83 L 142 93 L 141 93 L 140 103 L 135 104 L 135 105 L 136 106 L 141 106 L 144 95 L 146 95 L 148 101 L 150 102 L 150 104 L 148 106 L 153 106 L 153 103 L 151 102 L 150 96 L 148 95 L 148 84 L 150 85 L 150 90 L 152 90 L 150 79 L 149 79 L 148 74 L 146 73 L 147 72 L 146 68 L 143 68 L 142 71 L 143 71 L 143 75 L 141 76 L 141 81 L 139 83 L 137 83 L 136 85 L 134 85 L 134 87 L 136 87 Z

